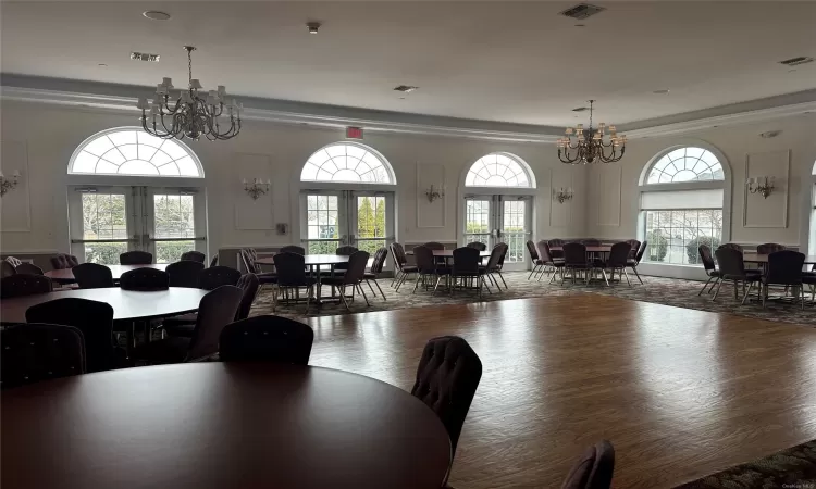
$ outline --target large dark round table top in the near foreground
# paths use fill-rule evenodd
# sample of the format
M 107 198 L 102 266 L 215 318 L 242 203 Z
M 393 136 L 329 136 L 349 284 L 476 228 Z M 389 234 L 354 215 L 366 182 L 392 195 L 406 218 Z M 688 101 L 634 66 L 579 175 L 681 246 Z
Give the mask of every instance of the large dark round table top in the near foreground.
M 2 487 L 438 489 L 450 442 L 392 385 L 320 367 L 187 363 L 2 396 Z

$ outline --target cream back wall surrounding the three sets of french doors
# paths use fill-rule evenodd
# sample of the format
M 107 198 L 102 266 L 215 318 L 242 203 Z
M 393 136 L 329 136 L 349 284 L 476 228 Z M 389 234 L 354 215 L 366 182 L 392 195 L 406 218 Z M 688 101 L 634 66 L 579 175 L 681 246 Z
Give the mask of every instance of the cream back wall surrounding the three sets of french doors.
M 97 131 L 138 124 L 137 116 L 10 101 L 2 101 L 0 109 L 2 170 L 11 174 L 20 168 L 24 181 L 2 199 L 2 252 L 67 251 L 65 189 L 72 152 Z M 226 247 L 299 241 L 300 168 L 313 151 L 343 137 L 341 130 L 246 122 L 233 140 L 190 143 L 206 172 L 210 252 Z M 514 153 L 533 168 L 539 187 L 534 201 L 536 236 L 572 237 L 586 233 L 585 201 L 573 199 L 559 204 L 552 199 L 551 184 L 571 186 L 577 196 L 585 196 L 589 172 L 559 163 L 552 145 L 384 133 L 366 134 L 362 142 L 380 151 L 394 167 L 399 241 L 459 240 L 461 192 L 457 187 L 462 172 L 493 151 Z M 444 175 L 448 189 L 444 200 L 429 204 L 424 197 L 426 180 L 417 185 L 418 178 L 422 180 L 426 175 L 434 175 L 432 180 Z M 256 176 L 271 178 L 273 186 L 270 195 L 254 202 L 244 192 L 240 179 Z M 30 199 L 26 199 L 28 192 Z M 236 220 L 236 214 L 242 218 Z M 442 224 L 441 216 L 445 217 L 443 227 L 429 227 Z M 288 223 L 289 235 L 276 235 L 275 223 Z

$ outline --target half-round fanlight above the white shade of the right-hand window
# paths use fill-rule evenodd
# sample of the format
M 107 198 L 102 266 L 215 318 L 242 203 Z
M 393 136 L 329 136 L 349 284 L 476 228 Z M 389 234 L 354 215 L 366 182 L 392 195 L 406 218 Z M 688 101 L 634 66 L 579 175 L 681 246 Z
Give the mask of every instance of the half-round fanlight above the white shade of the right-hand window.
M 679 148 L 664 154 L 652 166 L 646 184 L 721 180 L 722 165 L 703 148 Z

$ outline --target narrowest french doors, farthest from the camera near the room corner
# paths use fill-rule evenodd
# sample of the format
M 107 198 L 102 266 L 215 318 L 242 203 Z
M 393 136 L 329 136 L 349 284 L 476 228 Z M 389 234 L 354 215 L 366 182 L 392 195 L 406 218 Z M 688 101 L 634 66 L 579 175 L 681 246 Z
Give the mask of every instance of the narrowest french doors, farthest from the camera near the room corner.
M 505 269 L 527 269 L 524 242 L 532 235 L 529 196 L 468 196 L 465 198 L 465 243 L 478 241 L 492 249 L 507 243 Z

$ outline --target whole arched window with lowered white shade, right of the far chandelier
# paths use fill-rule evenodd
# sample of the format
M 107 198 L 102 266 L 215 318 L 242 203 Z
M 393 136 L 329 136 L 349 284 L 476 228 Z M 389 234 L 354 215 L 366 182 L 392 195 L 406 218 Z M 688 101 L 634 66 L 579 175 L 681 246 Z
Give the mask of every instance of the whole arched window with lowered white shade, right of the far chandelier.
M 697 247 L 724 240 L 726 165 L 696 146 L 662 151 L 641 178 L 641 239 L 646 262 L 700 265 Z

